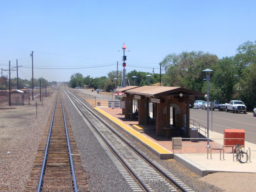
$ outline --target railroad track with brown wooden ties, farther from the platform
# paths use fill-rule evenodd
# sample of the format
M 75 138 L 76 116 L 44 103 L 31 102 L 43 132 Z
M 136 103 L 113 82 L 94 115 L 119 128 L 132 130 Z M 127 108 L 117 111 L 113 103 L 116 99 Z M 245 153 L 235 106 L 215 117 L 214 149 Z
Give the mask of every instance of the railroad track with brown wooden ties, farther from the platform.
M 26 191 L 88 191 L 87 177 L 60 93 L 56 94 L 49 120 Z

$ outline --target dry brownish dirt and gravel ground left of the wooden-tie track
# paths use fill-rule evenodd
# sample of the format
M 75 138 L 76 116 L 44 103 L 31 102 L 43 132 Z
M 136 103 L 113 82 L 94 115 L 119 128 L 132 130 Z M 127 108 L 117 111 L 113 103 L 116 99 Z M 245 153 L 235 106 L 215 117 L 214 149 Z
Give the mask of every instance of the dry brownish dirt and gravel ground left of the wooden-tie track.
M 7 102 L 0 103 L 0 191 L 25 190 L 56 90 L 49 92 L 42 98 L 43 107 L 38 97 L 30 105 L 10 107 Z

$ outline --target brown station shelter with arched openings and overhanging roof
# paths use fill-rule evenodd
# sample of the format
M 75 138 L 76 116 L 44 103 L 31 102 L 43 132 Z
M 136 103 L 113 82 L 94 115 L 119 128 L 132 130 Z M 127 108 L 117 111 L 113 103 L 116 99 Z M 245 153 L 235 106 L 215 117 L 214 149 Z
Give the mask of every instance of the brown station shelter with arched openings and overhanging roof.
M 172 129 L 169 133 L 174 136 L 174 130 L 183 128 L 189 137 L 189 104 L 195 96 L 205 95 L 182 87 L 166 86 L 129 86 L 119 91 L 125 92 L 125 118 L 133 112 L 133 99 L 138 99 L 138 125 L 154 125 L 157 136 L 167 136 L 168 129 Z

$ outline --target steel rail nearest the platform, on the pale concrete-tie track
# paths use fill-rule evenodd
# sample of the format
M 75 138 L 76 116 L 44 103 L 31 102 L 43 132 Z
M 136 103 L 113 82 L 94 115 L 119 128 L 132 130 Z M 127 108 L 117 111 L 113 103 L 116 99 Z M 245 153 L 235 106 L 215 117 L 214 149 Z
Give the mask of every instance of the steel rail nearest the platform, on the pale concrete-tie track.
M 67 90 L 66 88 L 62 87 L 63 89 Z M 82 101 L 80 101 L 74 94 L 72 94 L 70 91 L 67 90 L 68 93 L 70 93 L 82 106 L 84 106 L 87 110 L 89 110 L 95 117 L 97 117 L 101 123 L 103 123 L 106 127 L 108 127 L 112 132 L 114 132 L 118 138 L 120 138 L 123 142 L 125 142 L 129 147 L 133 149 L 137 154 L 139 154 L 143 159 L 145 159 L 151 166 L 153 166 L 156 170 L 158 170 L 159 173 L 161 173 L 164 177 L 166 177 L 170 182 L 172 182 L 178 189 L 180 189 L 182 192 L 188 192 L 187 189 L 182 187 L 178 182 L 173 180 L 170 176 L 168 176 L 161 168 L 159 168 L 155 163 L 153 163 L 150 159 L 148 159 L 146 156 L 144 156 L 142 153 L 140 153 L 135 147 L 133 147 L 130 143 L 128 143 L 117 131 L 112 129 L 111 125 L 105 122 L 103 118 L 99 117 L 98 114 L 96 114 L 93 110 L 91 110 L 88 106 L 86 106 Z M 71 97 L 69 97 L 71 98 Z M 72 98 L 71 98 L 72 99 Z M 73 99 L 72 99 L 73 100 Z M 75 103 L 76 105 L 76 103 Z M 76 105 L 77 106 L 77 105 Z M 78 107 L 78 106 L 77 106 Z M 82 110 L 78 107 L 78 109 L 82 112 Z M 85 116 L 85 114 L 82 112 L 82 114 Z M 87 118 L 87 117 L 86 117 Z M 90 121 L 89 121 L 90 122 Z M 92 124 L 90 122 L 90 124 Z

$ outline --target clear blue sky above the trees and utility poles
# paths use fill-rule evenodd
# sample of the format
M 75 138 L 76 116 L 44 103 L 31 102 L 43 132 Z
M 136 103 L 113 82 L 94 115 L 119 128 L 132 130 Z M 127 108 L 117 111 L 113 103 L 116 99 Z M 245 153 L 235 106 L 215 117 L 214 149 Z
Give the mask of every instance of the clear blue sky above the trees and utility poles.
M 159 72 L 170 53 L 201 50 L 219 58 L 256 40 L 256 1 L 1 1 L 0 68 L 20 78 L 67 81 L 76 72 L 93 77 L 116 70 L 126 43 L 127 72 Z M 14 60 L 15 59 L 15 60 Z M 148 68 L 146 68 L 148 67 Z M 121 66 L 119 66 L 121 69 Z M 15 77 L 15 73 L 12 77 Z

